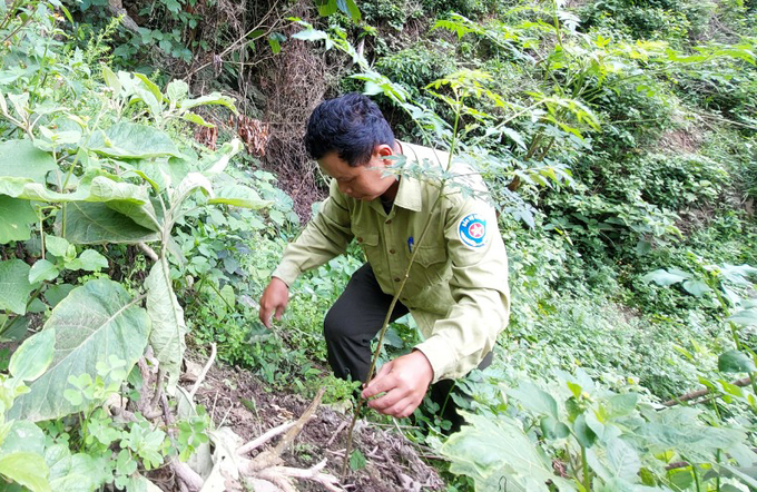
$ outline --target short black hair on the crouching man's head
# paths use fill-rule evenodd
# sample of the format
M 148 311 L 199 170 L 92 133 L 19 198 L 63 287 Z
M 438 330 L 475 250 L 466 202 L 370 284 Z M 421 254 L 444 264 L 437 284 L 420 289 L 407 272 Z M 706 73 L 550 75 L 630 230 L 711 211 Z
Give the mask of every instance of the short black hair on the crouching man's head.
M 350 166 L 362 166 L 382 144 L 394 147 L 394 134 L 378 106 L 360 94 L 321 102 L 307 121 L 305 148 L 315 160 L 334 151 Z

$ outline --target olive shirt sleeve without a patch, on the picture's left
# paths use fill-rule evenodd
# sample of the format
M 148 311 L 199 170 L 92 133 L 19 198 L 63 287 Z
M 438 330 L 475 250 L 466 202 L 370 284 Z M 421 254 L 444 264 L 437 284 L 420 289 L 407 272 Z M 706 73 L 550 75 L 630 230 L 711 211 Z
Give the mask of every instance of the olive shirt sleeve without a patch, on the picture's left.
M 284 248 L 282 262 L 272 276 L 291 286 L 302 273 L 343 254 L 352 238 L 347 201 L 336 181 L 332 181 L 328 198 L 297 239 Z

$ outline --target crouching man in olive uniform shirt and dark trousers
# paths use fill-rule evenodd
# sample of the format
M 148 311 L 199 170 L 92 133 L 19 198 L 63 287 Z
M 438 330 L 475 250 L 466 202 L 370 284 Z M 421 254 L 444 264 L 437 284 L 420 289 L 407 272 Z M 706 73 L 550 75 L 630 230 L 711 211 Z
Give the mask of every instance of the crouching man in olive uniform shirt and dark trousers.
M 454 378 L 489 365 L 497 336 L 508 324 L 507 254 L 494 209 L 481 199 L 483 180 L 454 163 L 451 170 L 460 186 L 446 186 L 432 208 L 439 183 L 386 169 L 395 156 L 444 168 L 449 155 L 395 140 L 378 107 L 361 95 L 322 102 L 307 124 L 305 145 L 333 178 L 328 198 L 285 248 L 260 297 L 260 321 L 271 327 L 272 315 L 281 318 L 286 308 L 297 276 L 343 254 L 354 238 L 367 263 L 326 314 L 324 336 L 334 374 L 365 382 L 371 341 L 417 248 L 391 319 L 410 312 L 425 340 L 384 364 L 362 395 L 377 396 L 368 405 L 396 417 L 412 414 L 430 385 L 432 398 L 442 404 Z M 444 416 L 459 424 L 453 413 Z

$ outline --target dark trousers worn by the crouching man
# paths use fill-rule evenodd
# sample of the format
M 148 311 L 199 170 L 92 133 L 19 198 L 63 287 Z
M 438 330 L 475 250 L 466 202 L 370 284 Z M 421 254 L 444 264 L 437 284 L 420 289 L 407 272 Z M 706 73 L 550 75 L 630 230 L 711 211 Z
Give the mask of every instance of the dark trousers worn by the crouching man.
M 373 355 L 371 341 L 381 329 L 391 304 L 392 296 L 383 293 L 371 265 L 366 263 L 352 275 L 323 322 L 328 363 L 335 376 L 365 382 Z M 397 302 L 390 319 L 395 321 L 407 312 L 407 307 Z M 479 368 L 489 366 L 491 361 L 492 354 L 489 353 Z M 441 416 L 454 425 L 460 417 L 449 397 L 453 387 L 454 381 L 441 380 L 431 385 L 430 396 L 444 409 Z

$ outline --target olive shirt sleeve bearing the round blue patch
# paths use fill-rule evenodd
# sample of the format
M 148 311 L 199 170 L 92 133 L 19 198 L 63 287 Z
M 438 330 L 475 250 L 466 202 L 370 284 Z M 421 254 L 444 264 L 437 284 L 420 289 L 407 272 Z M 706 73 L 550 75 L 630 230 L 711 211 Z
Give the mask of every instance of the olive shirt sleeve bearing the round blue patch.
M 454 305 L 415 347 L 431 363 L 433 382 L 462 377 L 475 368 L 494 348 L 510 315 L 508 257 L 493 208 L 482 200 L 461 199 L 449 209 L 444 238 Z

